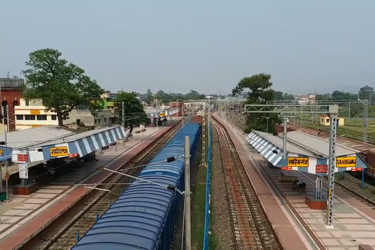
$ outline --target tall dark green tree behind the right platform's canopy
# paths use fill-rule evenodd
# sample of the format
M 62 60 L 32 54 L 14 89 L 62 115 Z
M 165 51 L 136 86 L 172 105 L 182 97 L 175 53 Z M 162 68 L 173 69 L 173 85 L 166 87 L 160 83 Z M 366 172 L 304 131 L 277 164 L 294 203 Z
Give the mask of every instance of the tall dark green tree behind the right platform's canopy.
M 272 83 L 270 82 L 271 75 L 257 74 L 251 77 L 243 78 L 233 89 L 232 95 L 241 93 L 244 89 L 250 89 L 247 104 L 266 104 L 267 101 L 273 100 L 276 93 L 271 89 Z M 280 123 L 281 120 L 277 114 L 268 113 L 250 113 L 247 115 L 247 128 L 245 132 L 250 132 L 251 129 L 266 131 L 267 122 L 266 117 L 272 117 L 269 120 L 269 132 L 274 131 L 274 125 Z

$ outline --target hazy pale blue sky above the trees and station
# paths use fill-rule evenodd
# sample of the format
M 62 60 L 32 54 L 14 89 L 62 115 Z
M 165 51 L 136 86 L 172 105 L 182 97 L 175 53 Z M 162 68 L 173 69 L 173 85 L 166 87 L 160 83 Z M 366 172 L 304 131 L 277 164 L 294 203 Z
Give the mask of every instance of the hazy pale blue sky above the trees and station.
M 229 93 L 265 72 L 283 92 L 375 85 L 374 0 L 8 0 L 0 76 L 56 48 L 111 91 Z

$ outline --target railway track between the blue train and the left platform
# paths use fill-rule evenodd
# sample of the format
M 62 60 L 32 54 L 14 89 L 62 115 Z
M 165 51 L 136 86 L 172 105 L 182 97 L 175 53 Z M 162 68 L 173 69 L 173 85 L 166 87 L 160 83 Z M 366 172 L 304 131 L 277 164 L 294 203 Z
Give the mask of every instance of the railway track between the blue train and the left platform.
M 167 135 L 161 137 L 151 148 L 137 155 L 131 163 L 122 167 L 131 169 L 123 172 L 133 176 L 138 175 L 138 171 L 141 168 L 132 167 L 147 164 L 181 127 L 182 123 L 173 128 Z M 70 219 L 52 238 L 47 239 L 38 250 L 70 250 L 77 243 L 77 233 L 83 236 L 97 221 L 97 217 L 100 217 L 109 208 L 110 204 L 121 195 L 122 190 L 125 190 L 129 182 L 131 182 L 129 177 L 116 174 L 111 179 L 111 184 L 100 186 L 100 188 L 111 190 L 110 192 L 98 192 L 98 196 L 87 201 L 84 204 L 84 208 Z

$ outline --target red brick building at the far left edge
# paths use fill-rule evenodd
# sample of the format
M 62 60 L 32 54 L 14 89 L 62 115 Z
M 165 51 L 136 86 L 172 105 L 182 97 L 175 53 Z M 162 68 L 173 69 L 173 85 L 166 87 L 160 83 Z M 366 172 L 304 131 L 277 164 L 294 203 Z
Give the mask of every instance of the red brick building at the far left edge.
M 9 130 L 16 129 L 16 123 L 14 122 L 15 115 L 14 115 L 14 106 L 20 104 L 20 97 L 21 97 L 21 85 L 24 83 L 23 79 L 19 78 L 0 78 L 0 96 L 1 96 L 1 103 L 0 107 L 2 110 L 3 105 L 8 105 L 8 113 L 9 113 Z M 2 119 L 0 119 L 1 124 L 1 131 L 3 131 L 2 126 Z M 5 122 L 5 125 L 7 123 Z

